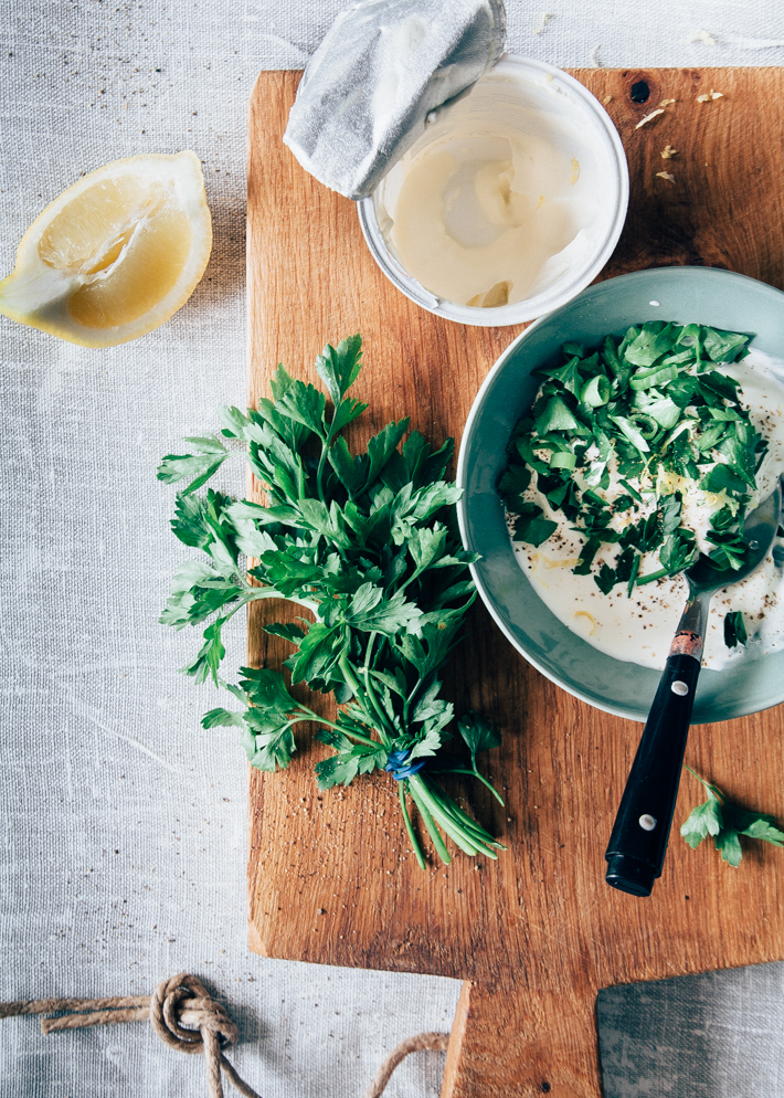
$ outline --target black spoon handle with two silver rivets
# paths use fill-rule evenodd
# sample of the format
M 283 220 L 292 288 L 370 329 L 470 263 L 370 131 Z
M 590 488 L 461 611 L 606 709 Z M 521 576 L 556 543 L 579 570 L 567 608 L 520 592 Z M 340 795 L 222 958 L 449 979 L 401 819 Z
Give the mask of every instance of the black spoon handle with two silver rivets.
M 693 656 L 668 657 L 610 836 L 605 880 L 634 896 L 661 876 L 699 674 Z

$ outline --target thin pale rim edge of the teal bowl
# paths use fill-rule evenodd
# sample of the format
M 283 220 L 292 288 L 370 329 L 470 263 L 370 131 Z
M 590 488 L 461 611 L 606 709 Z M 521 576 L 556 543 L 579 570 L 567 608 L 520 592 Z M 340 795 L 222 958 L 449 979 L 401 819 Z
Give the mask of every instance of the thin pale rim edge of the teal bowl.
M 565 308 L 565 306 L 568 306 L 568 305 L 573 305 L 575 303 L 575 300 L 580 296 L 587 295 L 587 294 L 596 291 L 598 287 L 604 286 L 604 285 L 610 284 L 610 283 L 612 283 L 613 285 L 615 285 L 615 284 L 628 284 L 631 282 L 635 282 L 635 281 L 642 279 L 643 277 L 649 277 L 650 274 L 654 273 L 654 272 L 664 273 L 664 272 L 670 272 L 670 271 L 677 271 L 677 272 L 679 272 L 681 274 L 681 276 L 685 276 L 687 278 L 706 278 L 706 277 L 711 278 L 711 277 L 717 277 L 717 278 L 722 278 L 722 279 L 739 281 L 739 282 L 743 282 L 743 283 L 753 283 L 757 288 L 760 288 L 762 291 L 769 292 L 771 294 L 771 296 L 777 297 L 780 299 L 777 302 L 777 304 L 780 305 L 780 307 L 784 306 L 784 291 L 778 289 L 776 286 L 771 286 L 769 283 L 761 282 L 759 278 L 752 278 L 750 275 L 740 274 L 739 272 L 735 272 L 735 271 L 728 271 L 724 267 L 701 267 L 701 266 L 686 266 L 686 265 L 680 266 L 680 265 L 677 265 L 677 264 L 669 264 L 669 265 L 666 265 L 666 266 L 658 266 L 658 267 L 645 267 L 642 271 L 633 271 L 633 272 L 631 272 L 628 274 L 616 275 L 613 278 L 602 279 L 602 282 L 598 282 L 598 283 L 595 283 L 592 286 L 585 287 L 585 289 L 583 289 L 581 292 L 581 294 L 578 295 L 576 298 L 572 298 L 570 302 L 565 302 L 563 305 L 559 306 L 558 309 L 553 309 L 552 312 L 545 314 L 544 316 L 538 317 L 532 324 L 530 324 L 525 329 L 525 331 L 521 331 L 518 336 L 516 336 L 515 339 L 511 340 L 511 342 L 509 344 L 509 346 L 506 347 L 505 350 L 502 350 L 501 353 L 499 355 L 499 357 L 496 359 L 496 361 L 494 362 L 492 367 L 488 371 L 487 377 L 485 378 L 485 380 L 483 381 L 481 386 L 477 390 L 477 394 L 474 398 L 474 402 L 472 403 L 470 411 L 468 413 L 468 416 L 467 416 L 466 422 L 465 422 L 465 426 L 463 429 L 463 435 L 460 437 L 460 447 L 459 447 L 459 452 L 458 452 L 458 456 L 457 456 L 457 472 L 456 472 L 456 475 L 455 475 L 455 484 L 460 489 L 460 493 L 462 493 L 460 494 L 460 498 L 457 502 L 457 524 L 458 524 L 458 528 L 459 528 L 459 531 L 460 531 L 460 539 L 463 541 L 464 547 L 469 541 L 469 538 L 468 538 L 468 518 L 467 518 L 467 509 L 468 509 L 468 490 L 467 490 L 468 485 L 467 485 L 467 481 L 468 481 L 468 455 L 469 455 L 470 444 L 472 444 L 472 441 L 473 441 L 472 436 L 473 436 L 473 433 L 474 433 L 474 424 L 475 424 L 475 421 L 477 420 L 477 418 L 479 416 L 479 414 L 481 412 L 481 409 L 483 409 L 483 405 L 484 405 L 487 392 L 492 388 L 492 386 L 494 386 L 494 383 L 496 381 L 496 378 L 504 370 L 504 368 L 506 367 L 506 365 L 509 361 L 509 359 L 516 353 L 518 347 L 522 342 L 525 342 L 525 340 L 530 336 L 530 334 L 532 331 L 536 331 L 537 329 L 539 329 L 540 327 L 542 327 L 544 324 L 547 324 L 548 321 L 550 321 L 560 312 L 560 309 Z M 587 695 L 586 693 L 584 693 L 583 690 L 579 689 L 578 687 L 574 687 L 572 685 L 568 685 L 557 674 L 554 674 L 550 668 L 543 666 L 540 663 L 540 661 L 536 657 L 536 655 L 532 655 L 530 652 L 526 651 L 523 648 L 523 646 L 520 644 L 520 642 L 518 641 L 518 638 L 515 635 L 515 633 L 512 632 L 512 630 L 509 627 L 509 625 L 508 625 L 506 619 L 504 617 L 504 615 L 500 614 L 498 612 L 498 610 L 496 609 L 496 606 L 494 604 L 492 595 L 491 595 L 490 591 L 488 590 L 488 588 L 487 588 L 487 585 L 485 583 L 485 579 L 484 579 L 483 572 L 477 567 L 477 563 L 479 563 L 479 562 L 469 564 L 469 569 L 470 569 L 472 579 L 474 580 L 474 582 L 476 584 L 476 589 L 479 592 L 479 596 L 481 598 L 481 601 L 485 604 L 486 610 L 489 612 L 489 614 L 492 617 L 494 622 L 500 629 L 501 633 L 507 638 L 507 641 L 509 641 L 509 643 L 512 645 L 512 647 L 516 648 L 517 652 L 519 652 L 520 655 L 529 664 L 531 664 L 532 667 L 536 667 L 536 669 L 538 672 L 540 672 L 540 674 L 542 674 L 551 683 L 554 683 L 562 690 L 565 690 L 568 694 L 571 694 L 573 697 L 579 698 L 581 701 L 585 701 L 587 705 L 592 706 L 594 709 L 600 709 L 603 712 L 608 712 L 608 714 L 612 714 L 613 716 L 616 716 L 616 717 L 623 717 L 623 718 L 625 718 L 627 720 L 635 720 L 635 721 L 638 721 L 640 724 L 643 722 L 643 720 L 645 718 L 640 718 L 637 714 L 635 714 L 635 712 L 633 712 L 633 711 L 631 711 L 628 709 L 625 709 L 622 706 L 614 706 L 614 705 L 611 705 L 611 704 L 604 704 L 604 703 L 597 700 L 595 697 L 592 697 L 592 696 Z M 596 651 L 600 651 L 600 650 L 596 650 Z M 642 665 L 635 664 L 634 661 L 628 661 L 628 662 L 632 663 L 633 666 L 642 666 Z M 704 669 L 708 671 L 710 668 L 704 668 Z M 717 674 L 720 674 L 720 672 L 717 672 Z M 783 701 L 784 701 L 784 691 L 782 693 L 782 697 L 777 701 L 772 701 L 769 705 L 761 705 L 759 708 L 754 708 L 754 709 L 742 708 L 742 710 L 739 710 L 738 712 L 732 712 L 729 716 L 712 717 L 708 721 L 692 720 L 692 724 L 709 724 L 709 722 L 712 724 L 714 720 L 731 720 L 731 719 L 735 719 L 738 717 L 753 716 L 756 712 L 763 712 L 765 709 L 771 709 L 771 708 L 775 707 L 776 705 L 781 705 Z

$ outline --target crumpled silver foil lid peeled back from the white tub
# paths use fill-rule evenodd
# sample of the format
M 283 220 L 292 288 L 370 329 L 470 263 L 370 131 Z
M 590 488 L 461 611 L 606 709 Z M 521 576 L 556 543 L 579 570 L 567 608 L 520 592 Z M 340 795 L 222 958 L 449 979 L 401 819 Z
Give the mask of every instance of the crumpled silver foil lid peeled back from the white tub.
M 320 182 L 365 198 L 505 38 L 504 0 L 363 0 L 308 62 L 284 141 Z

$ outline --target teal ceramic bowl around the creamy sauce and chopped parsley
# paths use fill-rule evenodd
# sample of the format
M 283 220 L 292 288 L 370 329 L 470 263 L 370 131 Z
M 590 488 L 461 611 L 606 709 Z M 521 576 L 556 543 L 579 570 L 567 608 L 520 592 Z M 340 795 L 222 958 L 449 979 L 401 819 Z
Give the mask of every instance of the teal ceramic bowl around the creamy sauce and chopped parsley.
M 531 407 L 531 371 L 555 359 L 561 344 L 597 345 L 631 324 L 678 320 L 753 335 L 752 346 L 784 359 L 784 294 L 714 267 L 658 267 L 590 286 L 563 308 L 534 321 L 510 344 L 477 393 L 463 434 L 457 483 L 460 532 L 481 555 L 472 567 L 496 623 L 529 663 L 598 709 L 645 720 L 659 674 L 598 652 L 566 629 L 541 601 L 515 559 L 496 484 L 509 436 Z M 784 651 L 703 669 L 693 722 L 729 720 L 784 701 Z

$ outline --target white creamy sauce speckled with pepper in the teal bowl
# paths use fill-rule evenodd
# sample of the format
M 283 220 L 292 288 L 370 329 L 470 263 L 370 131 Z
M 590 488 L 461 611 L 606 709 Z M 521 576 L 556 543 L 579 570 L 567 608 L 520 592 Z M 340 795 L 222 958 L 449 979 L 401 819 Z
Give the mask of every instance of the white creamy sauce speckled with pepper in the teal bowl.
M 719 369 L 733 377 L 743 390 L 743 403 L 751 422 L 767 440 L 769 450 L 756 474 L 757 489 L 749 510 L 765 499 L 784 473 L 784 361 L 752 350 L 741 362 L 720 363 Z M 676 482 L 681 482 L 678 484 Z M 606 495 L 612 499 L 623 492 L 611 479 Z M 526 497 L 537 503 L 544 517 L 559 524 L 558 530 L 538 549 L 513 541 L 515 555 L 531 585 L 552 613 L 574 633 L 616 659 L 660 669 L 669 653 L 678 620 L 688 595 L 682 576 L 675 576 L 636 587 L 632 598 L 626 584 L 617 584 L 603 594 L 590 576 L 574 576 L 584 538 L 571 530 L 562 511 L 553 511 L 536 490 L 536 474 Z M 688 485 L 688 489 L 687 489 Z M 684 487 L 681 525 L 693 529 L 698 546 L 708 551 L 704 540 L 711 516 L 724 504 L 724 493 L 700 492 L 693 482 L 670 477 L 669 490 Z M 595 489 L 594 489 L 595 490 Z M 653 510 L 651 503 L 648 510 Z M 613 525 L 623 529 L 639 514 L 615 516 Z M 515 519 L 508 516 L 510 535 Z M 603 561 L 613 567 L 619 555 L 617 546 L 605 547 L 594 560 L 594 571 Z M 658 568 L 656 553 L 646 556 L 642 574 Z M 745 647 L 724 644 L 724 615 L 741 611 L 749 633 Z M 764 562 L 740 583 L 717 591 L 711 600 L 702 665 L 721 668 L 731 661 L 761 656 L 784 647 L 784 539 L 777 538 Z

